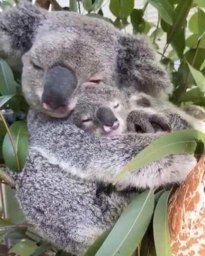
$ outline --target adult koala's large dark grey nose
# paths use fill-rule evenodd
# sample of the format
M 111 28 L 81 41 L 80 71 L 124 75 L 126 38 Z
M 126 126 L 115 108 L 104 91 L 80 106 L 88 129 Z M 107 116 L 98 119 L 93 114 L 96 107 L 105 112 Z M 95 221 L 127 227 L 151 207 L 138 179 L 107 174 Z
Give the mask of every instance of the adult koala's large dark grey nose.
M 42 104 L 51 110 L 66 106 L 77 86 L 75 73 L 63 66 L 53 66 L 45 76 Z

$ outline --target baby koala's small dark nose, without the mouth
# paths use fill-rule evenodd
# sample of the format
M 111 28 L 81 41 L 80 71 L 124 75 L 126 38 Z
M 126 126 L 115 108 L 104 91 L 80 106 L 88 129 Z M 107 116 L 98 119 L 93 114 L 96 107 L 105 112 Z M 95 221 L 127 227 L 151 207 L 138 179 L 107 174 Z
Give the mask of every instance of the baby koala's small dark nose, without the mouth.
M 106 126 L 113 126 L 114 122 L 117 121 L 117 118 L 109 107 L 99 107 L 96 112 L 96 117 L 99 122 Z

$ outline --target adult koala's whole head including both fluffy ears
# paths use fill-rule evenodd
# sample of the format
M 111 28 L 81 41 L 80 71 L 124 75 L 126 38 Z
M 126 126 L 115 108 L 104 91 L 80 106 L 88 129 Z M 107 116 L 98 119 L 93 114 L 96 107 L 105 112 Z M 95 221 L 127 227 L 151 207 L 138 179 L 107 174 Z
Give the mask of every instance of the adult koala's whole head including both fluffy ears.
M 134 86 L 170 93 L 169 76 L 144 38 L 74 12 L 48 12 L 20 1 L 0 15 L 0 50 L 22 58 L 22 87 L 32 108 L 65 117 L 82 84 Z

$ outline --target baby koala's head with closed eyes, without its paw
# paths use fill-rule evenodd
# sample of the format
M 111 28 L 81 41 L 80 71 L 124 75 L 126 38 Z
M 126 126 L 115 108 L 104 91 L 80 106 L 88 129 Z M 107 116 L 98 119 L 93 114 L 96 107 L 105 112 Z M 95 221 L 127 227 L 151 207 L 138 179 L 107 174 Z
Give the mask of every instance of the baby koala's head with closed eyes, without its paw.
M 72 122 L 95 136 L 115 136 L 127 129 L 129 99 L 119 89 L 102 86 L 77 95 Z

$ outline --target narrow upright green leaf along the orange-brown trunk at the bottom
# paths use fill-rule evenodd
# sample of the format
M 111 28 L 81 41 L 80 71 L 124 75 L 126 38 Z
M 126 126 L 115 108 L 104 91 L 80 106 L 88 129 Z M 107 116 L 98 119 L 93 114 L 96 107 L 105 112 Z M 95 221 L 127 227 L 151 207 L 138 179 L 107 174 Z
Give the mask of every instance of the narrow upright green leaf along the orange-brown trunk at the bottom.
M 170 191 L 166 191 L 160 196 L 154 211 L 153 232 L 157 256 L 172 256 L 167 213 L 169 194 Z

